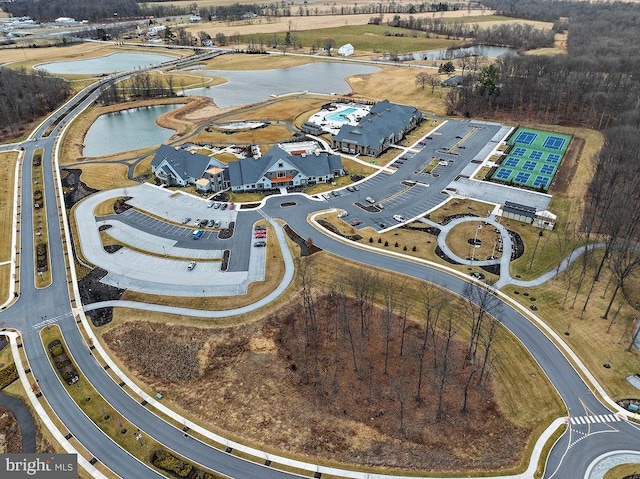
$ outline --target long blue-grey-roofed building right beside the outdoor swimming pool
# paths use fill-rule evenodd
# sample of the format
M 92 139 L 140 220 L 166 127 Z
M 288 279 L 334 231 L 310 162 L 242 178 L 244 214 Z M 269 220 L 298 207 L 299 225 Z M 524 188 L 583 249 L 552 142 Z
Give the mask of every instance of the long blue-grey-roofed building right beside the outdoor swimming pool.
M 352 155 L 379 156 L 422 121 L 422 113 L 412 106 L 383 100 L 371 107 L 357 125 L 343 125 L 333 136 L 334 150 Z

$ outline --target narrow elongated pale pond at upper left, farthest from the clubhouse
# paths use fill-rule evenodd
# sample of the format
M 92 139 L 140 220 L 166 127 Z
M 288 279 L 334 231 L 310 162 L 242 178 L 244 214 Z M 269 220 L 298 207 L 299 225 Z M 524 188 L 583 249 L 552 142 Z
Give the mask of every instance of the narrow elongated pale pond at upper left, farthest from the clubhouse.
M 41 63 L 34 68 L 59 75 L 98 75 L 144 68 L 174 59 L 155 53 L 112 53 L 85 60 Z

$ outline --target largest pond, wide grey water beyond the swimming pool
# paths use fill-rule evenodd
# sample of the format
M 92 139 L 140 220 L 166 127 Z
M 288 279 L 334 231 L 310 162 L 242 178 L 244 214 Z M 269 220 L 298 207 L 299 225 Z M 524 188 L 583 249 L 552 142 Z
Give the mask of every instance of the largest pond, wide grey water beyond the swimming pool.
M 210 88 L 187 90 L 186 95 L 209 96 L 221 108 L 257 103 L 273 95 L 309 91 L 351 93 L 346 77 L 375 73 L 380 68 L 341 62 L 316 62 L 290 68 L 260 71 L 207 71 L 228 81 Z

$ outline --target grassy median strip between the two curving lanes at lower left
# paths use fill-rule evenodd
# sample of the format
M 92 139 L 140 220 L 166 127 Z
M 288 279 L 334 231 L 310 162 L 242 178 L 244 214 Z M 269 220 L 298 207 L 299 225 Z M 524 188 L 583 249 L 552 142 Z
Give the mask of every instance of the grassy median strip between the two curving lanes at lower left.
M 52 341 L 60 341 L 62 347 L 73 362 L 73 357 L 68 352 L 66 343 L 64 342 L 64 338 L 62 337 L 60 328 L 58 326 L 54 325 L 44 328 L 40 332 L 40 337 L 45 350 L 47 351 L 49 361 L 52 363 L 52 367 L 55 371 L 58 370 L 56 369 L 55 364 L 53 364 L 51 355 L 49 354 L 49 344 Z M 167 475 L 166 472 L 162 471 L 162 469 L 154 467 L 150 463 L 152 454 L 158 450 L 166 450 L 165 446 L 157 441 L 154 441 L 146 434 L 141 434 L 140 439 L 136 439 L 138 429 L 122 415 L 120 415 L 109 403 L 107 403 L 107 401 L 94 389 L 91 383 L 89 383 L 84 378 L 81 371 L 78 370 L 78 373 L 79 380 L 73 385 L 68 385 L 58 372 L 62 384 L 65 386 L 65 389 L 78 405 L 78 407 L 82 409 L 87 417 L 91 419 L 91 421 L 93 421 L 96 426 L 98 426 L 116 444 L 118 444 L 124 450 L 128 451 L 142 463 L 148 465 L 152 469 L 155 469 L 161 474 Z M 179 457 L 173 452 L 172 454 L 176 457 Z M 180 460 L 184 461 L 184 459 Z M 204 469 L 201 466 L 198 466 L 198 468 Z M 168 475 L 168 477 L 171 476 Z M 223 476 L 211 474 L 209 477 L 211 479 L 214 479 L 222 478 Z

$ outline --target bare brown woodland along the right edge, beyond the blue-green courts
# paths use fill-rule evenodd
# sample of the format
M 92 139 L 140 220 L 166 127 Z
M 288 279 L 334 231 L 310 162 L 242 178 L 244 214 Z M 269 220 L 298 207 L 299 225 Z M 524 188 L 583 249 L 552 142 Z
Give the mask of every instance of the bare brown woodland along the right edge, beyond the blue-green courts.
M 609 321 L 609 332 L 621 320 L 625 304 L 640 307 L 631 282 L 640 271 L 640 6 L 507 0 L 485 5 L 499 13 L 566 25 L 568 53 L 510 55 L 472 69 L 461 88 L 449 91 L 447 109 L 465 116 L 508 116 L 602 131 L 604 146 L 592 159 L 582 218 L 555 234 L 556 247 L 565 255 L 574 240 L 587 248 L 578 265 L 565 272 L 562 307 L 580 308 L 584 316 L 595 291 L 602 290 L 606 306 L 599 313 Z M 632 331 L 629 319 L 623 336 Z M 632 344 L 633 338 L 629 349 Z

